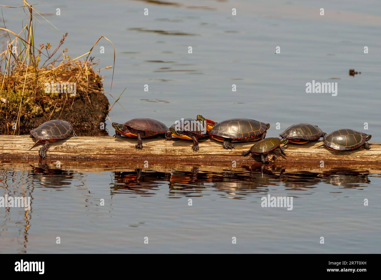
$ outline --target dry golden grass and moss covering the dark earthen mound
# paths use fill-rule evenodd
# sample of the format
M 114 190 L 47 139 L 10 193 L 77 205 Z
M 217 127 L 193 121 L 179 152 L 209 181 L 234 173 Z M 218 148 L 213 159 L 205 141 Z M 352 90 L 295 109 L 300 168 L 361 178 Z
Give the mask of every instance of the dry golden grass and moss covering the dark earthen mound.
M 62 34 L 62 38 L 54 50 L 50 43 L 36 47 L 33 20 L 37 20 L 36 14 L 43 19 L 46 15 L 25 0 L 23 4 L 22 7 L 0 5 L 6 8 L 23 9 L 29 16 L 28 24 L 18 34 L 5 27 L 0 27 L 5 31 L 3 34 L 8 39 L 8 42 L 2 45 L 4 50 L 1 52 L 0 58 L 0 131 L 5 134 L 10 134 L 12 126 L 16 128 L 13 130 L 13 134 L 19 134 L 20 123 L 27 126 L 37 117 L 46 115 L 46 120 L 49 120 L 54 112 L 62 112 L 65 108 L 70 107 L 75 99 L 87 99 L 90 102 L 88 93 L 104 93 L 102 76 L 99 75 L 101 69 L 94 70 L 98 61 L 93 62 L 93 58 L 89 58 L 89 56 L 101 38 L 112 44 L 109 39 L 102 36 L 94 43 L 90 51 L 74 59 L 66 56 L 67 49 L 58 52 L 67 33 Z M 47 19 L 45 20 L 49 22 Z M 14 38 L 12 39 L 11 36 Z M 85 56 L 86 59 L 81 61 L 80 58 Z M 105 69 L 111 67 L 108 66 Z M 70 93 L 54 93 L 54 91 L 45 92 L 46 84 L 50 84 L 52 81 L 76 83 L 76 95 L 70 96 Z

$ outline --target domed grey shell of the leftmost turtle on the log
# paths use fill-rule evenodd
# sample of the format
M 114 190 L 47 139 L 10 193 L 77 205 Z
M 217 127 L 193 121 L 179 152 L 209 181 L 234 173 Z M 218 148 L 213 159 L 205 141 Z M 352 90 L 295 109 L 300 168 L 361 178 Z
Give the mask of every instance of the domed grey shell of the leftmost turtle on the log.
M 73 126 L 64 120 L 50 120 L 30 131 L 37 140 L 64 139 L 73 131 Z

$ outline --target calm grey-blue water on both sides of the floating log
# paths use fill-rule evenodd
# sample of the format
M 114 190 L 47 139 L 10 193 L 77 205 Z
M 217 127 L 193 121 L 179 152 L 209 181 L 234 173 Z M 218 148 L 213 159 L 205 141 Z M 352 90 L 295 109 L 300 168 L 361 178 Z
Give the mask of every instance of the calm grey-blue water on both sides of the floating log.
M 110 92 L 112 70 L 102 70 L 104 88 L 114 98 L 126 88 L 110 111 L 112 122 L 146 117 L 170 126 L 197 114 L 215 121 L 248 117 L 271 123 L 269 137 L 298 122 L 319 125 L 327 133 L 364 131 L 366 122 L 371 142 L 381 142 L 378 0 L 168 2 L 173 5 L 53 0 L 35 8 L 69 33 L 64 47 L 72 58 L 86 53 L 101 35 L 112 40 L 114 82 Z M 55 15 L 57 8 L 61 16 Z M 144 8 L 149 16 L 143 15 Z M 232 8 L 237 16 L 231 15 Z M 319 15 L 320 8 L 325 16 Z M 14 18 L 17 13 L 3 8 L 8 29 L 21 30 L 25 14 Z M 55 46 L 61 38 L 46 22 L 35 32 L 37 43 Z M 275 54 L 277 46 L 280 54 Z M 92 56 L 100 59 L 101 68 L 110 66 L 112 46 L 101 41 Z M 361 74 L 351 77 L 349 69 Z M 307 94 L 305 85 L 312 80 L 337 82 L 338 95 Z M 27 213 L 0 208 L 0 252 L 380 252 L 379 172 L 295 173 L 258 166 L 211 170 L 176 166 L 166 172 L 91 173 L 38 163 L 0 165 L 0 196 L 32 197 Z M 261 197 L 267 194 L 292 196 L 293 210 L 262 208 Z M 365 198 L 369 206 L 363 205 Z M 232 237 L 237 244 L 232 245 Z

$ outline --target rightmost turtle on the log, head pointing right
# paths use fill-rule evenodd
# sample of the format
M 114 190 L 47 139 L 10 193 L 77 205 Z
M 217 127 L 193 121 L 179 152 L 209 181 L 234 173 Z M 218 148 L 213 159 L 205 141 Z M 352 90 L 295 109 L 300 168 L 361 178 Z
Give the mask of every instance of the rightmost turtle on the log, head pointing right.
M 369 150 L 368 141 L 372 138 L 370 134 L 365 134 L 352 129 L 339 129 L 332 131 L 323 137 L 323 144 L 316 148 L 327 147 L 334 151 L 355 150 L 364 147 Z

